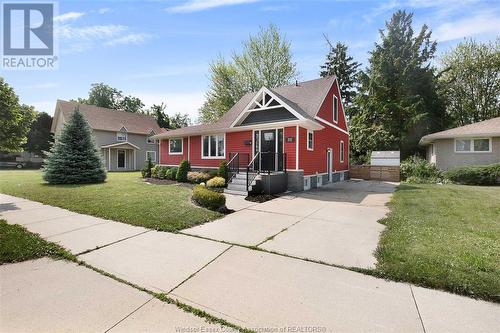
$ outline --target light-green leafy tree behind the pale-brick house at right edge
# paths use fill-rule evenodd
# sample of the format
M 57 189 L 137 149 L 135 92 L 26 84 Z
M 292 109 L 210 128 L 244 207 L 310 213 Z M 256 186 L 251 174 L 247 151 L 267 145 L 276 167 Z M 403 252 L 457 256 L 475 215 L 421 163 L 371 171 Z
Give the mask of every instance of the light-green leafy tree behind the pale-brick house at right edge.
M 440 60 L 441 93 L 453 127 L 500 117 L 500 37 L 465 40 Z

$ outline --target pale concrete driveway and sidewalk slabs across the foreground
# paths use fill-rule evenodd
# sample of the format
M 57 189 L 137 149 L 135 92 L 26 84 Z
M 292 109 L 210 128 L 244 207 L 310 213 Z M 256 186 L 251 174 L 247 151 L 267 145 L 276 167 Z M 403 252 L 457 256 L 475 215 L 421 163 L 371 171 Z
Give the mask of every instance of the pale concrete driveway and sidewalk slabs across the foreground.
M 96 268 L 242 327 L 497 331 L 498 304 L 232 245 L 260 244 L 294 257 L 372 267 L 382 230 L 376 220 L 387 212 L 384 204 L 394 186 L 338 186 L 263 204 L 231 197 L 228 204 L 238 206 L 237 212 L 185 230 L 193 235 L 151 231 L 3 194 L 0 218 L 75 254 L 85 252 L 79 259 Z M 6 264 L 0 266 L 0 281 L 2 332 L 222 329 L 74 263 Z

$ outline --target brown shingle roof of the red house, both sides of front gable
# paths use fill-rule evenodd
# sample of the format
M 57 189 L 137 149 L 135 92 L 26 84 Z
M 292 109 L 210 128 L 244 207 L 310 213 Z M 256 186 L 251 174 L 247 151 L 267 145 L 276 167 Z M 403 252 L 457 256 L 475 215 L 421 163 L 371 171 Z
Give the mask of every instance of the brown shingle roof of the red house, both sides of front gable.
M 297 111 L 306 119 L 314 119 L 316 113 L 321 107 L 321 103 L 330 90 L 335 76 L 320 78 L 311 81 L 300 82 L 298 85 L 292 84 L 278 88 L 270 89 L 284 103 Z M 207 131 L 223 131 L 236 120 L 238 115 L 250 103 L 257 92 L 251 92 L 244 95 L 222 118 L 213 124 L 201 124 L 179 128 L 168 131 L 168 136 L 186 136 L 196 135 Z

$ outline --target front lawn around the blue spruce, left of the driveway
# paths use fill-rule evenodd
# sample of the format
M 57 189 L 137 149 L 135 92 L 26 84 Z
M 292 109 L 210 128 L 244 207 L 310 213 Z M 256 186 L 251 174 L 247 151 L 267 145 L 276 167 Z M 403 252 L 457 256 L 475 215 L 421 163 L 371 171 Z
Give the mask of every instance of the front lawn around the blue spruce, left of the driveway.
M 144 183 L 139 172 L 108 173 L 102 184 L 48 185 L 40 171 L 0 171 L 0 192 L 128 224 L 176 231 L 220 213 L 191 203 L 191 189 Z

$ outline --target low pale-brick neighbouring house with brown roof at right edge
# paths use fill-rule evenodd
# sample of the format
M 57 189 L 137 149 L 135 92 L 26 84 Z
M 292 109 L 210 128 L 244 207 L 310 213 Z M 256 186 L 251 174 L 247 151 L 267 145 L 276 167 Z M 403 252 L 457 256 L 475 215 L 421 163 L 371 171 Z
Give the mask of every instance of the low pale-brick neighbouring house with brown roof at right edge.
M 441 170 L 500 163 L 500 117 L 426 135 L 420 144 Z

